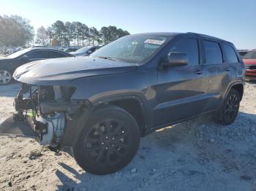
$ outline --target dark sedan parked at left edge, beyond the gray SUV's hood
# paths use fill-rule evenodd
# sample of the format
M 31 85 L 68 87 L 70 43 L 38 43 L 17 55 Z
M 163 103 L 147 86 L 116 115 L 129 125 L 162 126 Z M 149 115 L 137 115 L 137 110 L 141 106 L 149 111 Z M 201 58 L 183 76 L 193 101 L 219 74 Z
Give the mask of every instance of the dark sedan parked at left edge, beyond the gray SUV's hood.
M 52 48 L 31 47 L 0 58 L 0 85 L 7 85 L 12 80 L 12 74 L 19 66 L 31 61 L 48 58 L 72 57 L 68 52 Z

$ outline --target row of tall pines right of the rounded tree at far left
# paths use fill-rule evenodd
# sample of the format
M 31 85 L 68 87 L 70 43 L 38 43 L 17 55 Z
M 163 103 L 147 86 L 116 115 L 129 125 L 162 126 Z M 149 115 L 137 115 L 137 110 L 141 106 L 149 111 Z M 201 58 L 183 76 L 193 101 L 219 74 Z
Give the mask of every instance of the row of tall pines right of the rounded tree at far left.
M 89 46 L 97 44 L 108 44 L 121 36 L 128 35 L 116 26 L 103 26 L 99 31 L 97 28 L 86 26 L 80 22 L 63 22 L 57 20 L 52 26 L 37 29 L 37 43 L 51 46 Z

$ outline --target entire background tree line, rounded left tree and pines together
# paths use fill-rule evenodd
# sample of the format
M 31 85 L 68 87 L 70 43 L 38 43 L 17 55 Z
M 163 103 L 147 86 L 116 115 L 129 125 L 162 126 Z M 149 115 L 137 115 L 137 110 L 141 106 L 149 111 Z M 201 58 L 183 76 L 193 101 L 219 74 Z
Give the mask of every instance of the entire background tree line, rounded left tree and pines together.
M 104 45 L 126 35 L 129 35 L 128 31 L 116 26 L 103 26 L 98 31 L 80 22 L 64 23 L 61 20 L 48 28 L 37 28 L 34 35 L 34 28 L 26 18 L 0 15 L 0 47 L 29 47 L 31 44 L 54 47 Z

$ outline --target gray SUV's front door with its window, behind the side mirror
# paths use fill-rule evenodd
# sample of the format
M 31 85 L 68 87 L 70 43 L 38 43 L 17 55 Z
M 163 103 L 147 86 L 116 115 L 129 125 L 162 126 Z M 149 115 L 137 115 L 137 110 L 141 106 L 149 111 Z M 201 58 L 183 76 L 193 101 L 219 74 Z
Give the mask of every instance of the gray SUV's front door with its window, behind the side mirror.
M 158 71 L 157 104 L 154 125 L 164 125 L 202 113 L 203 85 L 206 72 L 200 65 L 196 38 L 178 39 L 169 52 L 183 52 L 187 66 L 173 66 Z

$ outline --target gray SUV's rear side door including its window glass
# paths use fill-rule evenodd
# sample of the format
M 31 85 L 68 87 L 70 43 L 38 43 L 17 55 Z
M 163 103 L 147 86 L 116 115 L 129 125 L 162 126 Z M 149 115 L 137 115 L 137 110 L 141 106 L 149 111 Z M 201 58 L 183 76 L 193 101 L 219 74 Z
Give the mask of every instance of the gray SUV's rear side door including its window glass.
M 207 76 L 204 91 L 208 97 L 204 109 L 213 111 L 219 108 L 222 94 L 232 81 L 232 77 L 229 64 L 224 63 L 220 42 L 202 39 L 202 44 L 205 58 L 203 65 Z

